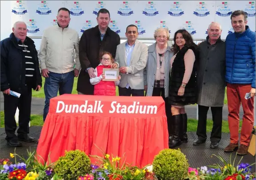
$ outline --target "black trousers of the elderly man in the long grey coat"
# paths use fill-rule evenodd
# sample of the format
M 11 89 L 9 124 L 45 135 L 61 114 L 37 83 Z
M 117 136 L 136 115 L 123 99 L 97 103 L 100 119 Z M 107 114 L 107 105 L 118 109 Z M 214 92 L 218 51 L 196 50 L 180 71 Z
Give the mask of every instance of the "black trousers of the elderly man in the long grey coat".
M 213 126 L 210 140 L 212 143 L 218 143 L 221 139 L 222 109 L 223 107 L 211 107 Z M 198 105 L 198 124 L 196 135 L 203 141 L 207 139 L 206 122 L 208 110 L 209 107 Z

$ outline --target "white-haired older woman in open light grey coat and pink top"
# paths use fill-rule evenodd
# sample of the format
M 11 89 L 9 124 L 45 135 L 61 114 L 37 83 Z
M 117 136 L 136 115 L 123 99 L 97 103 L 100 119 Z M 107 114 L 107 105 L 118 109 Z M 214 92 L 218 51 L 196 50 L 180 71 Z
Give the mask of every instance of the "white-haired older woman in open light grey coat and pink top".
M 144 69 L 144 90 L 145 96 L 162 96 L 165 102 L 168 132 L 171 136 L 172 128 L 171 105 L 168 103 L 170 60 L 173 56 L 171 47 L 167 42 L 170 38 L 167 28 L 158 28 L 154 33 L 156 43 L 148 47 L 148 62 Z

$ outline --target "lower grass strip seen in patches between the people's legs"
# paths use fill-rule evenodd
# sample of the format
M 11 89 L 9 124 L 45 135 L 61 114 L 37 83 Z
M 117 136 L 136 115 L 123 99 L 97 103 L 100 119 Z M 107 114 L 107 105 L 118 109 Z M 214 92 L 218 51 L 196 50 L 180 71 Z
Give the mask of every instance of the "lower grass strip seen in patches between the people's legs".
M 4 111 L 0 112 L 0 128 L 4 128 Z M 31 115 L 31 126 L 42 126 L 43 125 L 43 116 L 41 115 Z M 242 121 L 240 120 L 240 127 L 242 126 Z M 188 132 L 196 132 L 197 120 L 188 119 Z M 207 132 L 212 131 L 212 120 L 207 120 Z M 229 132 L 228 121 L 222 121 L 222 132 Z

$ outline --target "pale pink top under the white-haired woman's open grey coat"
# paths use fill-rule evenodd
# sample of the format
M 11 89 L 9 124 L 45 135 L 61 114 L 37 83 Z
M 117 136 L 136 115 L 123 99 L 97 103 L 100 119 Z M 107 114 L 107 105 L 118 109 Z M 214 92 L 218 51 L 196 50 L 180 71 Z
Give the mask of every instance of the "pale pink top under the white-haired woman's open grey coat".
M 156 43 L 156 80 L 164 79 L 164 53 L 167 50 L 168 44 L 164 46 L 163 49 L 160 49 Z

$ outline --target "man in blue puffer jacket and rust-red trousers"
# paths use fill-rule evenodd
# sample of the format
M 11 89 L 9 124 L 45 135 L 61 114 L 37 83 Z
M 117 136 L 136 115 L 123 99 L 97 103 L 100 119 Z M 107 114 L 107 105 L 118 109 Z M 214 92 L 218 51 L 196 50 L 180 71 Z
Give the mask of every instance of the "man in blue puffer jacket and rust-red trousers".
M 255 32 L 247 24 L 244 11 L 234 11 L 231 15 L 234 33 L 226 38 L 226 82 L 228 97 L 228 125 L 230 144 L 224 152 L 233 152 L 238 148 L 239 109 L 244 109 L 243 126 L 240 137 L 238 155 L 245 155 L 250 143 L 254 119 L 255 96 Z M 246 100 L 245 94 L 250 92 L 251 98 Z

